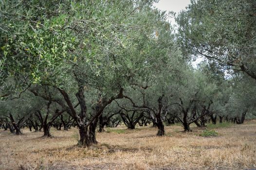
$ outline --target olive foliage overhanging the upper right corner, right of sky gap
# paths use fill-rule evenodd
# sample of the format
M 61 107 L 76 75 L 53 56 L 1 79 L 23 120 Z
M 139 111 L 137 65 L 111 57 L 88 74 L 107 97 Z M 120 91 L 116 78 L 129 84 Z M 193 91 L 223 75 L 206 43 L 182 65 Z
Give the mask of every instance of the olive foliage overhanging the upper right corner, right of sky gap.
M 185 56 L 204 56 L 256 79 L 254 0 L 191 0 L 176 18 Z

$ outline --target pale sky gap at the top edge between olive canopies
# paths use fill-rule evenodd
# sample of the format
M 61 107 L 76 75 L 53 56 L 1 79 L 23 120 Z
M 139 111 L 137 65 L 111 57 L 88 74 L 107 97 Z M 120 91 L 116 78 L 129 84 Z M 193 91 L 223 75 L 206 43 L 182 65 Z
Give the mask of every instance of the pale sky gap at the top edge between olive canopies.
M 173 11 L 176 15 L 190 3 L 190 0 L 159 0 L 158 3 L 154 3 L 153 6 L 163 11 Z M 175 24 L 174 18 L 169 18 L 171 24 Z

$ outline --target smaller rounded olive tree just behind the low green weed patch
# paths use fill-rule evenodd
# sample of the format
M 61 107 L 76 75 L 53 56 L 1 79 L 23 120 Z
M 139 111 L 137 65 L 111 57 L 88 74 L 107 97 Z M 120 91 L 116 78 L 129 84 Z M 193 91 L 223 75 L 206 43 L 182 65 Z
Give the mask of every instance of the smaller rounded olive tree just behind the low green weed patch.
M 216 82 L 200 69 L 183 69 L 179 77 L 169 84 L 169 114 L 182 122 L 184 131 L 189 132 L 190 124 L 205 126 L 208 117 L 213 117 L 219 97 Z

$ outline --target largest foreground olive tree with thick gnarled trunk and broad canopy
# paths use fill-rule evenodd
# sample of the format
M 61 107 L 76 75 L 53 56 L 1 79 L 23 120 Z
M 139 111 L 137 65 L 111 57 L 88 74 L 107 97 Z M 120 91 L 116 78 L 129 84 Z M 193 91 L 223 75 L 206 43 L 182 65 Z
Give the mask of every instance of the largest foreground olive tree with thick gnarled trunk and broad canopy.
M 152 2 L 1 1 L 1 76 L 57 89 L 55 102 L 79 128 L 78 144 L 97 143 L 104 108 L 167 57 L 159 37 L 170 27 Z

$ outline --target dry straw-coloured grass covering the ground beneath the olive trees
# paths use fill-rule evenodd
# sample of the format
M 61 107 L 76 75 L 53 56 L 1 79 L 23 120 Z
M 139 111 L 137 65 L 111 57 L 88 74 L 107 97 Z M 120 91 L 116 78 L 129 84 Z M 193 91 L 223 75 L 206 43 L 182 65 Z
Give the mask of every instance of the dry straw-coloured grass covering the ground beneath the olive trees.
M 122 129 L 122 128 L 119 128 Z M 165 127 L 109 129 L 97 134 L 98 145 L 77 148 L 78 130 L 52 129 L 53 138 L 23 130 L 15 136 L 0 131 L 0 170 L 233 170 L 256 167 L 256 121 L 220 127 L 217 137 L 198 136 L 203 129 Z

